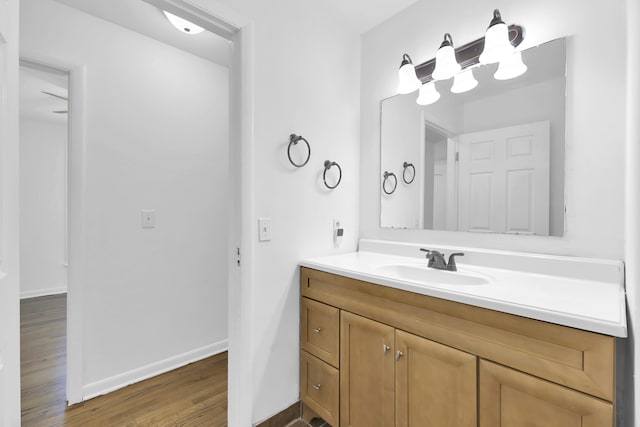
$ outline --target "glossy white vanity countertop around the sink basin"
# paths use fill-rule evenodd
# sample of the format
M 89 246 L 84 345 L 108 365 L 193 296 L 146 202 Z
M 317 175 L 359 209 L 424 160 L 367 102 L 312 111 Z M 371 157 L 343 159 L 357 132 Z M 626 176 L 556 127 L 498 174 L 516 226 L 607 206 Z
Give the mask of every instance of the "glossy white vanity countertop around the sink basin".
M 539 270 L 545 272 L 548 271 L 544 268 L 548 265 L 547 261 L 563 265 L 561 261 L 566 259 L 569 267 L 566 270 L 576 271 L 576 277 L 571 277 L 571 274 L 567 274 L 566 271 L 559 273 L 557 268 L 550 269 L 557 273 L 551 275 L 465 264 L 464 261 L 467 258 L 465 256 L 457 259 L 459 271 L 486 277 L 490 281 L 489 284 L 426 284 L 386 276 L 379 268 L 382 265 L 416 265 L 420 262 L 424 262 L 426 266 L 427 261 L 424 256 L 420 258 L 419 256 L 390 255 L 363 250 L 363 247 L 368 246 L 361 243 L 359 252 L 307 259 L 300 264 L 327 273 L 418 294 L 606 335 L 627 336 L 625 292 L 623 279 L 620 279 L 624 277 L 624 267 L 619 261 L 532 255 L 538 257 L 535 262 L 538 263 Z M 486 254 L 483 255 L 486 256 Z M 504 255 L 504 253 L 496 253 L 496 255 Z M 598 280 L 588 280 L 584 277 L 584 268 L 581 268 L 586 264 L 588 269 L 600 269 L 604 273 L 592 276 L 597 277 Z M 530 265 L 528 267 L 531 269 Z M 616 270 L 619 274 L 615 273 Z

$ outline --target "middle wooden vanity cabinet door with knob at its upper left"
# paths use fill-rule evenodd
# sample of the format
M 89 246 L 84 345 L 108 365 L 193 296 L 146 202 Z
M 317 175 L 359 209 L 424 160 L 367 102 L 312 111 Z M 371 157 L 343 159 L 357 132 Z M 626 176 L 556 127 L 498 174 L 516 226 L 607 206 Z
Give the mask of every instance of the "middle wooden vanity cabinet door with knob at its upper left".
M 396 427 L 477 425 L 476 356 L 396 331 L 396 358 Z

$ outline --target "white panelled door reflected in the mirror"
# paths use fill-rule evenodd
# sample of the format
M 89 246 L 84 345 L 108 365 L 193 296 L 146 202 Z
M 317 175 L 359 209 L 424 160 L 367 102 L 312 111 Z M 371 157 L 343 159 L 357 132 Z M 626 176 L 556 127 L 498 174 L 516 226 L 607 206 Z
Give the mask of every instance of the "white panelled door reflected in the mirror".
M 460 231 L 549 235 L 549 122 L 460 135 Z

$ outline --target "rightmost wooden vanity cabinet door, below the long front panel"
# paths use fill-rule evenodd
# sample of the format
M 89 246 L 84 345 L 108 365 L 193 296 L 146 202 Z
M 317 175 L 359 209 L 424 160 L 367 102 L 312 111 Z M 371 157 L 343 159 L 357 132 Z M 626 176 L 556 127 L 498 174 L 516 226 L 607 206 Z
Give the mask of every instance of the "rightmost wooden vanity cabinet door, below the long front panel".
M 480 361 L 480 427 L 611 427 L 613 405 L 587 394 Z

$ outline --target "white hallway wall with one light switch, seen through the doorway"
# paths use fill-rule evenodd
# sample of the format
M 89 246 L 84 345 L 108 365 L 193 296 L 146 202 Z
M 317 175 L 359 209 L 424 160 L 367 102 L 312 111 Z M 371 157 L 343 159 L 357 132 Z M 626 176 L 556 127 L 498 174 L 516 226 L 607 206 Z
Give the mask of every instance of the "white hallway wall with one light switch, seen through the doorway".
M 51 0 L 21 54 L 86 69 L 83 395 L 224 349 L 227 70 Z

